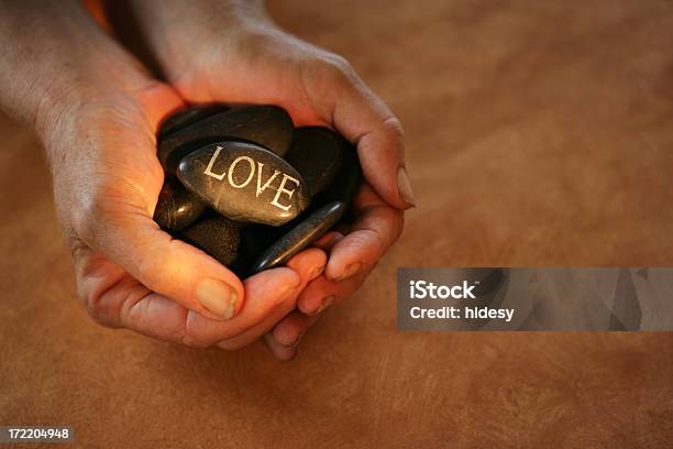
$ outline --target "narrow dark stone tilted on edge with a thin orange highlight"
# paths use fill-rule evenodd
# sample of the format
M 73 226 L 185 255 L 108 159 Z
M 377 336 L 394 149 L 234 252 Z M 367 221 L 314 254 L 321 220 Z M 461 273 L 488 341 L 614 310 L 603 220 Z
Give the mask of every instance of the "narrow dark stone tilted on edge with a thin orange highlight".
M 345 210 L 346 206 L 341 201 L 327 204 L 316 210 L 268 248 L 252 265 L 251 273 L 258 273 L 287 262 L 336 225 Z

